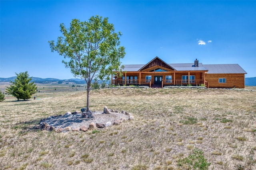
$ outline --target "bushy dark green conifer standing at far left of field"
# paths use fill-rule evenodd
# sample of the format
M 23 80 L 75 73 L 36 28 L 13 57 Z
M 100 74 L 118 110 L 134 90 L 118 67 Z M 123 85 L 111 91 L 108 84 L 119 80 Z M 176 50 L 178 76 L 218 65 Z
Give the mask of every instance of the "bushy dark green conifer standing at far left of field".
M 27 100 L 31 98 L 32 94 L 36 93 L 36 84 L 30 82 L 32 77 L 29 78 L 28 72 L 20 72 L 19 74 L 15 73 L 17 78 L 13 81 L 10 81 L 10 87 L 6 88 L 6 92 L 14 97 L 17 100 L 23 99 Z

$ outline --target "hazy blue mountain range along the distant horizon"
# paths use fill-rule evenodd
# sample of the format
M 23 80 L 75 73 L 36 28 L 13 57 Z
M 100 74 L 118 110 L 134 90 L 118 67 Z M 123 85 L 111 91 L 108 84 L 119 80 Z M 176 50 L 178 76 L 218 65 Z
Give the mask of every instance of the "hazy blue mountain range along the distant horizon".
M 9 78 L 0 78 L 0 82 L 10 82 L 14 81 L 16 76 Z M 79 78 L 70 78 L 68 80 L 60 80 L 57 78 L 39 78 L 32 77 L 32 81 L 35 83 L 45 83 L 45 84 L 86 84 L 85 80 Z M 256 77 L 245 78 L 246 86 L 256 86 Z

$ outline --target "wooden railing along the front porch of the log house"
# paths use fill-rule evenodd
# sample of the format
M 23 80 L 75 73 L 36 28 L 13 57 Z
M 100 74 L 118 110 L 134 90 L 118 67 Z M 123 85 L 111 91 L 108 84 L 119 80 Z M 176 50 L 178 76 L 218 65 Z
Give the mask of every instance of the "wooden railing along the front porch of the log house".
M 112 84 L 151 84 L 151 80 L 138 80 L 138 79 L 127 79 L 126 82 L 125 80 L 112 80 Z M 208 87 L 208 82 L 203 81 L 203 80 L 162 80 L 162 85 L 186 85 L 186 84 L 191 84 L 191 85 L 200 85 L 200 84 L 205 84 L 206 87 Z

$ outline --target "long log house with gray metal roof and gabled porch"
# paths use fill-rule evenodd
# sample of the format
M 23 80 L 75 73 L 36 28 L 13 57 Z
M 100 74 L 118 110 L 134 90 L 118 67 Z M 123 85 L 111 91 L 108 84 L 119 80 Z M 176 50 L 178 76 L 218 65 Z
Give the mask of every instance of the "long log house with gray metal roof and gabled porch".
M 238 64 L 167 64 L 155 57 L 147 64 L 124 65 L 122 76 L 111 77 L 120 86 L 206 86 L 207 88 L 244 88 L 246 72 Z

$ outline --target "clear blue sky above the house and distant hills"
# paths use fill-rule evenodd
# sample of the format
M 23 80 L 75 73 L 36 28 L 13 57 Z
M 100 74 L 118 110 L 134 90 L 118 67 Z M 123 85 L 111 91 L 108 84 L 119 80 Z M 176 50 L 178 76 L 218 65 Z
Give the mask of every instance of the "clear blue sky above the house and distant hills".
M 73 78 L 52 53 L 60 23 L 108 17 L 126 48 L 122 64 L 239 64 L 256 77 L 256 1 L 0 1 L 0 77 L 28 71 Z

